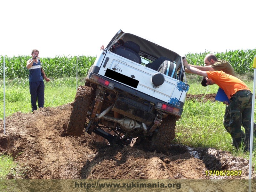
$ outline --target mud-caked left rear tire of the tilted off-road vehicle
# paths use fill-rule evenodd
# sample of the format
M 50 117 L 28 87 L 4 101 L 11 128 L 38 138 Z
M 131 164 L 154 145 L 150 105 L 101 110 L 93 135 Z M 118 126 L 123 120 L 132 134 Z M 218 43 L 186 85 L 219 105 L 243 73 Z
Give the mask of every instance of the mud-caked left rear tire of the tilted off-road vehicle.
M 89 109 L 90 101 L 93 97 L 93 89 L 87 86 L 79 86 L 76 97 L 72 105 L 71 115 L 68 121 L 67 134 L 80 136 L 84 130 L 86 114 Z

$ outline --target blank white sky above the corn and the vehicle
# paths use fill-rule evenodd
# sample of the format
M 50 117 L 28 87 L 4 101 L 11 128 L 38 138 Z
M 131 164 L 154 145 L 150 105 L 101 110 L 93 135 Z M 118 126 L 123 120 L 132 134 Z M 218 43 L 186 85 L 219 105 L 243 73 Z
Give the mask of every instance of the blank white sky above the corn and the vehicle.
M 181 56 L 255 49 L 255 0 L 4 0 L 0 55 L 97 56 L 119 29 Z

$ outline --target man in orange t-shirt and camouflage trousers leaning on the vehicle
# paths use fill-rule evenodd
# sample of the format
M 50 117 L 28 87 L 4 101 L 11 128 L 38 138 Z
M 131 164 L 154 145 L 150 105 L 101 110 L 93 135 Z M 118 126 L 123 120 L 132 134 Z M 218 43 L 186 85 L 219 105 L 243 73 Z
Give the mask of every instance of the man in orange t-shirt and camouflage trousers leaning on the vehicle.
M 252 114 L 252 93 L 243 81 L 235 76 L 224 73 L 223 71 L 202 71 L 188 65 L 183 60 L 184 67 L 191 73 L 204 76 L 202 85 L 217 84 L 224 90 L 229 98 L 223 103 L 230 107 L 229 127 L 233 146 L 238 149 L 240 145 L 244 145 L 244 150 L 249 151 L 250 148 L 250 130 L 251 130 L 251 114 Z M 242 141 L 241 125 L 245 130 L 245 140 Z

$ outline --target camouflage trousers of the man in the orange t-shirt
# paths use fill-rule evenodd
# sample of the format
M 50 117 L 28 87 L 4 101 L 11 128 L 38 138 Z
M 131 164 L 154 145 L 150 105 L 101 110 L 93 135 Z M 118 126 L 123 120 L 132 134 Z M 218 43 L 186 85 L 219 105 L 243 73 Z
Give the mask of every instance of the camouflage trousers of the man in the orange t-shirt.
M 232 144 L 239 148 L 243 142 L 245 150 L 250 147 L 251 115 L 252 115 L 252 93 L 248 90 L 236 92 L 229 100 L 230 105 L 226 107 L 223 125 L 231 134 Z M 245 134 L 241 130 L 244 127 Z M 254 131 L 256 124 L 253 125 Z M 254 134 L 256 135 L 256 134 Z

